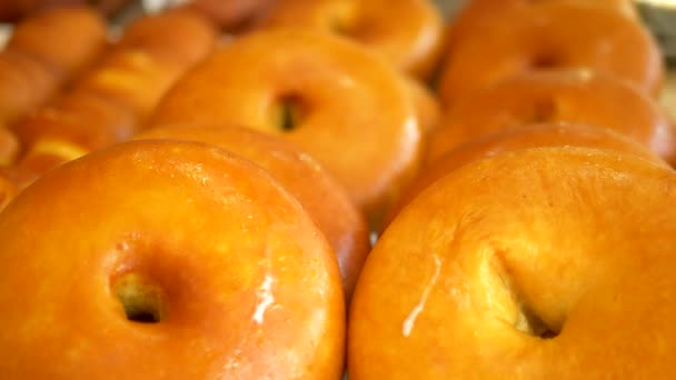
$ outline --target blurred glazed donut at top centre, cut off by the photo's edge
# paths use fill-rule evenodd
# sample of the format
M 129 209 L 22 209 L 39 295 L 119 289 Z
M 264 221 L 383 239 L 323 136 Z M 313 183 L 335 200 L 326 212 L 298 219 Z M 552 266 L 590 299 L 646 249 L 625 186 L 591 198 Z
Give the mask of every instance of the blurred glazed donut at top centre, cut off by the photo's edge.
M 262 22 L 264 28 L 297 26 L 350 37 L 420 78 L 436 68 L 444 34 L 429 0 L 280 0 Z

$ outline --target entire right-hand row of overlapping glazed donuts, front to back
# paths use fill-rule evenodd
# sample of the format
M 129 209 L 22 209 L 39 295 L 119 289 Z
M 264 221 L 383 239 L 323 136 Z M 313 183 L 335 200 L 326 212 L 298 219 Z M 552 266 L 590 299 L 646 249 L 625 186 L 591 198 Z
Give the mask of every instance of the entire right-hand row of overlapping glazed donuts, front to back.
M 350 379 L 673 377 L 674 130 L 632 3 L 475 0 L 450 30 L 444 114 L 351 299 Z

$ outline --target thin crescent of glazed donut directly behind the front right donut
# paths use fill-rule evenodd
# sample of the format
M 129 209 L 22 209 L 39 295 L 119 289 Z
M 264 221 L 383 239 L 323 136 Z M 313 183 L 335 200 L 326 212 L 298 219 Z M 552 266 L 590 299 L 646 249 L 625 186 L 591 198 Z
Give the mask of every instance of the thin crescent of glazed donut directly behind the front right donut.
M 450 171 L 500 152 L 540 147 L 581 147 L 629 152 L 668 168 L 666 162 L 643 144 L 610 129 L 555 122 L 503 130 L 469 140 L 430 162 L 389 210 L 386 226 L 422 190 Z

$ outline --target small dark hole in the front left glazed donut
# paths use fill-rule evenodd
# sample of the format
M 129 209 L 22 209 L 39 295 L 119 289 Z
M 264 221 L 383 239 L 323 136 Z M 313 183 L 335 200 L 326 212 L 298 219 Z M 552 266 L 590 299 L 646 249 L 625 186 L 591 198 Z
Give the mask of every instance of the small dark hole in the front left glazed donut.
M 166 318 L 165 291 L 147 277 L 133 272 L 126 273 L 113 281 L 112 288 L 127 320 L 159 323 Z

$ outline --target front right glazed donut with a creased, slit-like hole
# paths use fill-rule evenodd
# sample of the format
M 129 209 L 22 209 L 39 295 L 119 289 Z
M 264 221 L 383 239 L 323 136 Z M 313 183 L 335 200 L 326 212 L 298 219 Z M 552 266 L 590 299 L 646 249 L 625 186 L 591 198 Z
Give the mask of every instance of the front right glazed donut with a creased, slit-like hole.
M 672 378 L 674 197 L 670 169 L 594 149 L 450 172 L 367 259 L 350 380 Z

